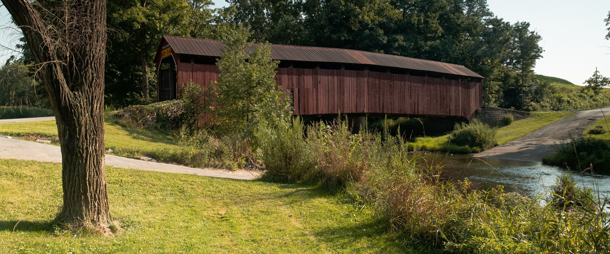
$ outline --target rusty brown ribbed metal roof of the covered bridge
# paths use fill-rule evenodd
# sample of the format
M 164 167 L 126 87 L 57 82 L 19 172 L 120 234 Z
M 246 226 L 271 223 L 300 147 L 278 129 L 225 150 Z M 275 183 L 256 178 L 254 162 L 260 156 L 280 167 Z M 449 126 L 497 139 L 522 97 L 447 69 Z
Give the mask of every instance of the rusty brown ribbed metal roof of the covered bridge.
M 187 38 L 165 35 L 163 38 L 170 44 L 174 52 L 189 55 L 207 55 L 220 57 L 224 49 L 220 41 L 199 38 Z M 256 48 L 253 44 L 248 51 Z M 378 65 L 392 68 L 413 69 L 417 71 L 433 71 L 468 77 L 483 77 L 463 65 L 442 63 L 398 55 L 387 55 L 352 49 L 332 49 L 308 46 L 271 45 L 271 58 L 274 60 L 289 60 L 303 62 L 351 63 L 357 65 Z

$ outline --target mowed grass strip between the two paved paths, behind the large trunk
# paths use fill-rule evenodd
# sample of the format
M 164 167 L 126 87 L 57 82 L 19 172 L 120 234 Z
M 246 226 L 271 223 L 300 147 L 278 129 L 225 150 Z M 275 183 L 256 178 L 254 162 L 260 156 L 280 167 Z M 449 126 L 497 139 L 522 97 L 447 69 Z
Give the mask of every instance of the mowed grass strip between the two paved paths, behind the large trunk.
M 106 122 L 106 148 L 113 149 L 113 154 L 139 158 L 141 155 L 163 149 L 179 149 L 171 136 L 151 130 L 132 127 L 121 127 L 112 122 Z M 25 135 L 57 135 L 55 121 L 15 122 L 0 124 L 0 133 L 10 136 Z

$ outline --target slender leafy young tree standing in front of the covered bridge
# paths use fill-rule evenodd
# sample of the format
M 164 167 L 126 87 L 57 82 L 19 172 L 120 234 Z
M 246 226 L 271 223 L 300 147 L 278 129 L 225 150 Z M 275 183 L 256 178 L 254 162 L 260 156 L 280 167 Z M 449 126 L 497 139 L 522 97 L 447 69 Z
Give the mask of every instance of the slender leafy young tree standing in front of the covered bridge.
M 252 49 L 248 37 L 245 29 L 227 31 L 217 62 L 218 82 L 210 88 L 217 93 L 214 121 L 226 132 L 246 135 L 263 121 L 277 121 L 290 114 L 290 96 L 273 80 L 278 62 L 271 60 L 271 45 L 261 43 Z

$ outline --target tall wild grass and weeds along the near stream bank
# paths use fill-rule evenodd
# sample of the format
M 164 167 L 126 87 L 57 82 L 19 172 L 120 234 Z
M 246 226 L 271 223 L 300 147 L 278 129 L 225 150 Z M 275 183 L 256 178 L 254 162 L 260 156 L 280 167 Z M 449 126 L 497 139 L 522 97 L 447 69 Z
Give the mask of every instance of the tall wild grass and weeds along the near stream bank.
M 506 193 L 501 186 L 476 190 L 467 180 L 442 181 L 442 168 L 417 164 L 407 156 L 403 139 L 387 131 L 351 134 L 345 121 L 304 126 L 295 119 L 259 135 L 267 179 L 320 185 L 359 206 L 370 206 L 388 230 L 422 249 L 610 251 L 610 221 L 600 208 L 567 209 L 569 202 L 540 205 L 551 194 L 531 199 Z M 558 186 L 555 197 L 575 193 L 557 191 L 567 185 Z

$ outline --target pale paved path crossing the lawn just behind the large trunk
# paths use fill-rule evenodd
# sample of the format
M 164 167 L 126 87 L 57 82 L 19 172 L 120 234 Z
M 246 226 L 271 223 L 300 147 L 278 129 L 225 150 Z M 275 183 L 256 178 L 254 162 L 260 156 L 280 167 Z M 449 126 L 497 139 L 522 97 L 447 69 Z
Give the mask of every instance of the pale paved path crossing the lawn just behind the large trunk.
M 61 163 L 62 153 L 59 150 L 59 146 L 23 141 L 15 138 L 6 138 L 6 136 L 0 135 L 0 158 Z M 106 155 L 106 165 L 119 168 L 205 175 L 207 177 L 232 178 L 240 180 L 252 180 L 259 176 L 256 173 L 250 174 L 247 171 L 228 172 L 215 169 L 188 168 L 174 164 L 135 160 L 114 155 Z

